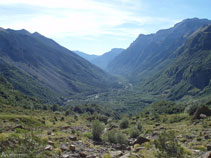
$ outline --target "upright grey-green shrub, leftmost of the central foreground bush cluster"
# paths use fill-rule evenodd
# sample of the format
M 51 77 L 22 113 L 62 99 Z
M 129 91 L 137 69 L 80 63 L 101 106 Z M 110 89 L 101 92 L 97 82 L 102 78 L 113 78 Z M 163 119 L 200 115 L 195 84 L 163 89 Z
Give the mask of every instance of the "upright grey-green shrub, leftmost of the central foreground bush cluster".
M 92 138 L 95 141 L 101 141 L 104 126 L 99 120 L 94 120 L 92 123 Z

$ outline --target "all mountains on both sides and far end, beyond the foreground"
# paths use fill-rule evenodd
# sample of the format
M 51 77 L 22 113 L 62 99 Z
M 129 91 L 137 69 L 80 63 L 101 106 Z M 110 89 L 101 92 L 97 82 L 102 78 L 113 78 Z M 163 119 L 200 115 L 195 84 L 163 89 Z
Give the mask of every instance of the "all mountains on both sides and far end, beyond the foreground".
M 101 56 L 72 52 L 37 32 L 1 28 L 0 77 L 10 91 L 47 103 L 83 95 L 102 104 L 142 106 L 156 99 L 210 96 L 210 24 L 186 19 Z

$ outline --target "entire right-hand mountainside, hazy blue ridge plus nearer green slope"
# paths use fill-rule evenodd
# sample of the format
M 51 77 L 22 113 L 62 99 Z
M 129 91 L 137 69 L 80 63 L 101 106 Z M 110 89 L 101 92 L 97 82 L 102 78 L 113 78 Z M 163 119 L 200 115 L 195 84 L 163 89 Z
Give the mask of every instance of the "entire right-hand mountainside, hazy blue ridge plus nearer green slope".
M 210 24 L 186 19 L 155 34 L 141 34 L 109 64 L 109 72 L 128 78 L 135 93 L 151 97 L 210 95 Z

